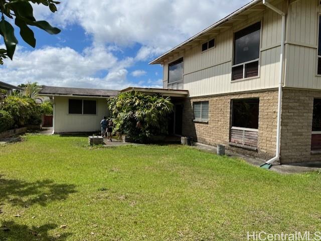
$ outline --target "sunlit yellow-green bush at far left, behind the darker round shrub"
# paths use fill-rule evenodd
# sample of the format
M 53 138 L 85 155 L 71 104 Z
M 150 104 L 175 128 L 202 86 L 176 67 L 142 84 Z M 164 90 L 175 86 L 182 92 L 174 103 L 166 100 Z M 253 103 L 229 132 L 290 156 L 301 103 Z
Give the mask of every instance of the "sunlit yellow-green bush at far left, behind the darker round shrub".
M 30 97 L 9 96 L 1 109 L 12 115 L 16 126 L 41 124 L 41 107 Z

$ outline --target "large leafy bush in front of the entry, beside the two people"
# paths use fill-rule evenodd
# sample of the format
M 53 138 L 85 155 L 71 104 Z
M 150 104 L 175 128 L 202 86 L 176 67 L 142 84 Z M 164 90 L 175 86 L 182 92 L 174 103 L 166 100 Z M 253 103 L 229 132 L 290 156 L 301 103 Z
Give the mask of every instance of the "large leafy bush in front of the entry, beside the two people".
M 174 105 L 170 98 L 160 95 L 144 95 L 139 92 L 121 93 L 107 100 L 114 131 L 128 134 L 137 142 L 168 132 L 168 114 Z

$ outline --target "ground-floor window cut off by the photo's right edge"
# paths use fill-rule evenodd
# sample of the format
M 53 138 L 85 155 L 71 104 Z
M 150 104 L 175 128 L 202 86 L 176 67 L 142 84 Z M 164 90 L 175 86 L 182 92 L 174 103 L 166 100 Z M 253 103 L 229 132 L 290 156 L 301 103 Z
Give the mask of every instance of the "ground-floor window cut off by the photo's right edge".
M 311 150 L 321 150 L 321 99 L 313 101 Z

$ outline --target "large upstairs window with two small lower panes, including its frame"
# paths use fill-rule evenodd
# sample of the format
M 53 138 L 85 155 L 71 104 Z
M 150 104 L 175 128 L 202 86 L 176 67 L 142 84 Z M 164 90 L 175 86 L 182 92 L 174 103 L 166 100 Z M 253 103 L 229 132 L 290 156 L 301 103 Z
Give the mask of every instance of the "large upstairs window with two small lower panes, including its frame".
M 235 33 L 232 80 L 258 76 L 260 37 L 260 22 Z

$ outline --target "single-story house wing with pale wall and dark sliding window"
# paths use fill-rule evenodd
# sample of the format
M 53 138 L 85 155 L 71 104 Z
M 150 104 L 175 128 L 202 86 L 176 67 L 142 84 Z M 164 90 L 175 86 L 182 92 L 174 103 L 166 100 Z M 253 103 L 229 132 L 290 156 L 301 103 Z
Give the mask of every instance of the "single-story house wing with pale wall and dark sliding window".
M 53 101 L 53 134 L 100 131 L 100 120 L 109 116 L 106 99 L 117 94 L 117 90 L 52 86 L 39 92 Z

